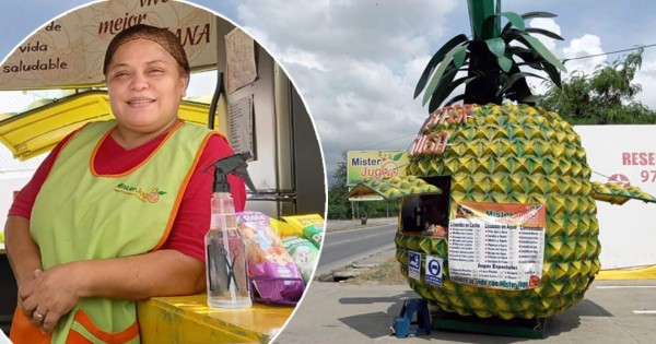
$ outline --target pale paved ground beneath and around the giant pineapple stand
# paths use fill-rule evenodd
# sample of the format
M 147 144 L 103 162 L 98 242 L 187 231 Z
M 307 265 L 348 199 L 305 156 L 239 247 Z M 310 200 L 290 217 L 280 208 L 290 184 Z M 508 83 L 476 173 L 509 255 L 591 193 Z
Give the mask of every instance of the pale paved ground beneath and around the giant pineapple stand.
M 276 343 L 655 343 L 656 281 L 595 281 L 585 298 L 547 320 L 544 339 L 433 330 L 398 339 L 389 327 L 407 285 L 351 285 L 314 281 Z

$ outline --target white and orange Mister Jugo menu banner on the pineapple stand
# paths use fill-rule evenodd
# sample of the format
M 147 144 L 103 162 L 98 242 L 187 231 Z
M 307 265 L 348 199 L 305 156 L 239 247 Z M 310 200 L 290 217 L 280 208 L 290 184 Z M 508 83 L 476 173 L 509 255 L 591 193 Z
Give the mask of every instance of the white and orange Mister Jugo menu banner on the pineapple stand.
M 448 272 L 456 283 L 528 289 L 542 278 L 543 204 L 458 202 L 448 225 Z

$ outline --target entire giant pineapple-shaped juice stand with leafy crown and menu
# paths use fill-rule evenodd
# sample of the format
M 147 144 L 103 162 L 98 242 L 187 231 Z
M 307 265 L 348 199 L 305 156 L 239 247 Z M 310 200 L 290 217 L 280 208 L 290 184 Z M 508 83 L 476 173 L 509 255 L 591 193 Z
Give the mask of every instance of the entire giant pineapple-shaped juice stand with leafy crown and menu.
M 565 69 L 531 34 L 562 38 L 525 20 L 554 15 L 501 12 L 500 0 L 468 5 L 472 37 L 447 41 L 417 85 L 430 115 L 408 176 L 366 180 L 349 197 L 402 198 L 396 259 L 436 310 L 433 328 L 541 337 L 546 320 L 582 300 L 600 270 L 595 201 L 656 199 L 590 182 L 579 137 L 535 106 L 525 78 L 543 76 L 525 69 L 557 86 Z M 465 93 L 440 108 L 458 86 Z

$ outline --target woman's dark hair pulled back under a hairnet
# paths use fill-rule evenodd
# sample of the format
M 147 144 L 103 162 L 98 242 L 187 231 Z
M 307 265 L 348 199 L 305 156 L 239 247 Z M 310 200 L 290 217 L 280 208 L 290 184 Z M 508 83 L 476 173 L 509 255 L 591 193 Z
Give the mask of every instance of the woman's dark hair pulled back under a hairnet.
M 121 31 L 109 41 L 109 46 L 107 46 L 107 51 L 105 52 L 105 62 L 103 63 L 104 75 L 107 75 L 107 67 L 112 62 L 116 50 L 124 44 L 134 39 L 149 39 L 161 45 L 178 62 L 187 75 L 191 72 L 185 48 L 183 48 L 179 38 L 174 33 L 167 28 L 137 24 Z

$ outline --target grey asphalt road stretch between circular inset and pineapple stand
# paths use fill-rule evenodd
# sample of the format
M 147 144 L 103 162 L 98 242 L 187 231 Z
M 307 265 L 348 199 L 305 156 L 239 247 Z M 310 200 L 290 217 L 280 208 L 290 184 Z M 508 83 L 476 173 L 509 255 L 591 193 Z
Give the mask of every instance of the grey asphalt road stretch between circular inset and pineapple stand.
M 327 233 L 315 276 L 394 247 L 396 224 Z

